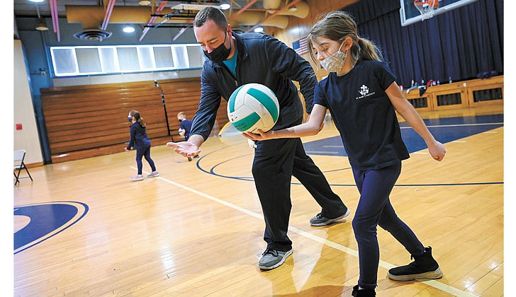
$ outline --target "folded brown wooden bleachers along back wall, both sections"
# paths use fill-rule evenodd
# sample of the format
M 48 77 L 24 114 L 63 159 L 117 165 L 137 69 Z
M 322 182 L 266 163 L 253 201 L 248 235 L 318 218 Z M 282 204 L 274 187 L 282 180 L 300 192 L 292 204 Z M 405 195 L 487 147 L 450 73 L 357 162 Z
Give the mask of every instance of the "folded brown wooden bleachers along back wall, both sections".
M 153 146 L 181 141 L 177 112 L 191 120 L 200 94 L 200 78 L 42 88 L 52 163 L 123 151 L 130 137 L 130 110 L 140 111 Z M 223 100 L 220 127 L 228 122 L 225 106 Z

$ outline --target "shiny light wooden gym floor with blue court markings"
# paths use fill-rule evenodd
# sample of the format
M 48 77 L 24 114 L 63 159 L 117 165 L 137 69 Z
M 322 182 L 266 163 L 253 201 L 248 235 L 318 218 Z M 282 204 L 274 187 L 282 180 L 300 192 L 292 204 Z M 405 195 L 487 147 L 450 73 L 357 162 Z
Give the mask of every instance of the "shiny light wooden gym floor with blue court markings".
M 503 117 L 503 106 L 422 113 L 434 120 L 432 132 L 439 119 L 481 115 Z M 486 124 L 456 125 L 454 132 L 469 132 L 445 144 L 440 163 L 425 149 L 411 153 L 391 194 L 444 277 L 386 279 L 388 268 L 411 260 L 378 228 L 377 296 L 503 296 L 504 128 L 468 130 L 475 127 Z M 303 142 L 336 135 L 330 122 Z M 242 136 L 223 136 L 201 149 L 188 162 L 153 143 L 160 175 L 141 182 L 130 182 L 135 153 L 122 146 L 109 156 L 30 168 L 34 181 L 14 187 L 13 296 L 350 296 L 359 274 L 351 226 L 359 194 L 347 157 L 311 154 L 350 216 L 311 227 L 320 208 L 293 179 L 293 255 L 261 272 L 264 221 L 252 148 Z M 143 169 L 150 171 L 145 161 Z

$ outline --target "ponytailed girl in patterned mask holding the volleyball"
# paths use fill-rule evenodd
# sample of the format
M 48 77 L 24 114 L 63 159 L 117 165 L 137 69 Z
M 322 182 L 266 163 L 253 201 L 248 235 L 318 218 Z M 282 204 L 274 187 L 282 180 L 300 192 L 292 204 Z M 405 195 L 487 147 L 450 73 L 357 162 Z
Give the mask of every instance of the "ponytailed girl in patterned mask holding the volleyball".
M 444 146 L 434 139 L 414 107 L 396 84 L 396 76 L 381 62 L 378 49 L 357 35 L 357 25 L 344 11 L 328 13 L 308 36 L 314 62 L 330 74 L 315 86 L 314 107 L 308 122 L 279 131 L 246 133 L 266 140 L 318 134 L 329 109 L 340 132 L 360 193 L 352 221 L 359 248 L 360 276 L 352 296 L 376 296 L 379 248 L 376 226 L 390 232 L 414 262 L 389 269 L 396 281 L 439 279 L 432 248 L 425 248 L 401 221 L 389 195 L 398 180 L 401 161 L 409 158 L 401 139 L 396 111 L 422 136 L 430 155 L 442 161 Z

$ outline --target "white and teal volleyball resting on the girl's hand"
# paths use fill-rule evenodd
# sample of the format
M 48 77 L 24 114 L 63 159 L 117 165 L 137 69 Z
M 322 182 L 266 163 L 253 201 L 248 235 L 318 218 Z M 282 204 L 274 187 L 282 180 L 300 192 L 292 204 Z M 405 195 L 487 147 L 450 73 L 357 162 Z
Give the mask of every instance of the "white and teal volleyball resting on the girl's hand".
M 279 117 L 278 98 L 271 89 L 259 83 L 237 88 L 228 100 L 228 118 L 240 132 L 269 131 Z

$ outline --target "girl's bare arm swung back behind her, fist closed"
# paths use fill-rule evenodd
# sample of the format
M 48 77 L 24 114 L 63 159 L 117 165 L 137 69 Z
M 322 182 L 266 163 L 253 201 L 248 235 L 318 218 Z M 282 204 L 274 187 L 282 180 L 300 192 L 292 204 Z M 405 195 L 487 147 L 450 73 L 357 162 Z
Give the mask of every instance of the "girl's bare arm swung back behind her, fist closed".
M 403 117 L 403 119 L 405 119 L 405 121 L 408 122 L 408 124 L 410 124 L 410 127 L 413 127 L 415 132 L 420 134 L 422 139 L 425 140 L 432 158 L 437 161 L 442 161 L 444 154 L 446 153 L 446 149 L 444 149 L 444 146 L 439 141 L 434 139 L 434 136 L 428 130 L 427 125 L 415 111 L 412 104 L 410 104 L 405 96 L 403 96 L 403 93 L 401 93 L 400 87 L 396 82 L 392 83 L 391 86 L 387 88 L 386 94 L 391 100 L 391 103 L 393 103 L 394 108 L 396 108 L 396 111 Z

